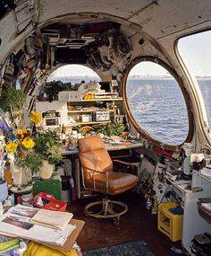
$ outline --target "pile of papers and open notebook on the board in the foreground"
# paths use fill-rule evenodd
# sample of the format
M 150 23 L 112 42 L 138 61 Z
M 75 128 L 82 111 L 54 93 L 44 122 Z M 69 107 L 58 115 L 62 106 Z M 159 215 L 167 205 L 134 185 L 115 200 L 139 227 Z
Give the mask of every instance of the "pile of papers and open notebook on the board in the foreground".
M 17 205 L 1 216 L 0 234 L 63 245 L 76 227 L 68 224 L 71 219 L 72 213 Z

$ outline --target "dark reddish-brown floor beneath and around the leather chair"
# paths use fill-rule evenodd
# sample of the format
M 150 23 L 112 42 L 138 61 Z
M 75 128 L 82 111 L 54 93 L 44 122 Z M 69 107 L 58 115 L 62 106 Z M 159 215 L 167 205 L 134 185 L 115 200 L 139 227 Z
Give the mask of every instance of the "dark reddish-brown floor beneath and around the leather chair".
M 143 196 L 124 193 L 113 198 L 127 203 L 129 207 L 129 211 L 121 216 L 120 225 L 114 225 L 111 220 L 85 216 L 83 207 L 97 199 L 78 199 L 70 204 L 69 210 L 73 216 L 86 222 L 77 240 L 82 252 L 137 240 L 148 243 L 156 256 L 173 255 L 170 251 L 172 246 L 181 248 L 181 242 L 173 243 L 158 231 L 156 215 L 151 215 L 150 210 L 146 209 Z

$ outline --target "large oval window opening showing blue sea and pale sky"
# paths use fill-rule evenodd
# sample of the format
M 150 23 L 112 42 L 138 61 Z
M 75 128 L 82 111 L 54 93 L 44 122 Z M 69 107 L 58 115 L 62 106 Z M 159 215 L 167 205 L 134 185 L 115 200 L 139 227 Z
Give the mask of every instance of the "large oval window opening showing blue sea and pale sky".
M 181 88 L 166 70 L 151 61 L 131 68 L 126 95 L 132 118 L 149 136 L 180 145 L 188 136 L 189 119 Z

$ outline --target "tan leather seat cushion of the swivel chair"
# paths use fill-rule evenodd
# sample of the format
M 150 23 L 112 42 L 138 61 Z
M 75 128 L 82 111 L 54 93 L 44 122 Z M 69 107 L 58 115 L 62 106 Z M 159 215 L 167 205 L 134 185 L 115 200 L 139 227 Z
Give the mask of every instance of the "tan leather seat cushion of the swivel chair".
M 95 175 L 95 184 L 97 191 L 105 194 L 119 194 L 126 190 L 130 190 L 136 186 L 139 182 L 139 178 L 130 173 L 122 172 L 107 172 L 108 174 L 108 190 L 106 190 L 106 175 L 97 174 Z M 86 187 L 89 190 L 94 190 L 93 179 L 90 178 L 86 181 Z

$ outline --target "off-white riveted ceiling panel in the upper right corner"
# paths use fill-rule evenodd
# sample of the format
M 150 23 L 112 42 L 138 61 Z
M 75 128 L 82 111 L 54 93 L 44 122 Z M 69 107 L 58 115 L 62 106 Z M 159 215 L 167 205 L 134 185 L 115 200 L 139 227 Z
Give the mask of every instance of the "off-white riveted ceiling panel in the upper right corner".
M 158 0 L 130 21 L 138 23 L 155 39 L 194 27 L 211 19 L 211 1 Z

